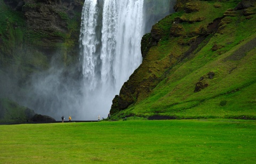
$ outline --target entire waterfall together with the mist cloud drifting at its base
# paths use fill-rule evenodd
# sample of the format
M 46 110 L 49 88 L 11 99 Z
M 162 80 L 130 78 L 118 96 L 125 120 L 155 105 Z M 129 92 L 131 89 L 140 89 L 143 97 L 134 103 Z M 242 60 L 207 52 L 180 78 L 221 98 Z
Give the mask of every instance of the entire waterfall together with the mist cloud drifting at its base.
M 85 0 L 79 63 L 63 67 L 61 55 L 52 54 L 51 68 L 35 72 L 26 89 L 12 97 L 21 105 L 57 120 L 61 116 L 74 120 L 107 117 L 114 96 L 142 61 L 143 34 L 173 12 L 170 9 L 175 2 Z

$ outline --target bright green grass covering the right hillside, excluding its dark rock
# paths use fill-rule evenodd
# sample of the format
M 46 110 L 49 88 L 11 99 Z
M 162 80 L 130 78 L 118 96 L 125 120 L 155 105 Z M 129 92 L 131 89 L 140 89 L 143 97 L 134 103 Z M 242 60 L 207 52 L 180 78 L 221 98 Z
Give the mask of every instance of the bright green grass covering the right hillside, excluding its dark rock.
M 203 10 L 189 14 L 175 13 L 158 23 L 162 23 L 161 25 L 166 28 L 169 26 L 166 22 L 170 22 L 177 15 L 187 19 L 204 15 L 205 19 L 201 22 L 181 23 L 185 31 L 190 32 L 198 27 L 206 27 L 215 18 L 222 17 L 227 9 L 234 9 L 237 2 L 200 2 L 199 6 Z M 221 7 L 214 8 L 213 5 L 217 4 Z M 255 11 L 255 7 L 250 10 Z M 163 72 L 161 69 L 167 70 L 168 64 L 172 64 L 169 75 L 151 91 L 149 96 L 139 95 L 135 105 L 130 105 L 118 116 L 129 114 L 152 116 L 157 113 L 176 118 L 239 118 L 245 116 L 255 119 L 256 48 L 252 46 L 255 45 L 256 38 L 256 17 L 253 15 L 251 19 L 246 19 L 241 11 L 237 11 L 235 17 L 228 16 L 222 22 L 225 20 L 229 23 L 224 23 L 224 28 L 218 33 L 208 36 L 205 40 L 209 42 L 199 45 L 201 50 L 196 50 L 195 54 L 174 65 L 170 62 L 170 54 L 175 56 L 184 52 L 182 48 L 187 47 L 180 46 L 179 42 L 185 42 L 183 40 L 191 38 L 169 37 L 161 39 L 158 46 L 151 47 L 137 72 L 147 72 L 148 69 L 150 73 L 153 72 L 151 75 L 155 74 L 160 77 Z M 214 44 L 222 48 L 212 51 Z M 249 52 L 244 55 L 244 51 Z M 165 68 L 157 63 L 164 65 Z M 209 86 L 194 93 L 199 78 L 207 77 L 210 71 L 215 73 L 214 78 L 203 80 Z M 146 73 L 146 76 L 150 73 Z M 140 78 L 146 76 L 143 75 Z

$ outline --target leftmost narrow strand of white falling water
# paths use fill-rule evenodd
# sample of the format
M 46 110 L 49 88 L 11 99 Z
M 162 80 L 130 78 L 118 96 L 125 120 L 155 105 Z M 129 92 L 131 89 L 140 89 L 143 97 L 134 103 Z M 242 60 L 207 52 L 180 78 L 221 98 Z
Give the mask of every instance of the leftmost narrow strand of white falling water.
M 97 19 L 99 9 L 97 7 L 97 0 L 85 1 L 82 11 L 81 21 L 81 34 L 80 42 L 82 49 L 82 67 L 84 82 L 87 90 L 95 89 L 98 79 L 95 74 L 95 67 L 97 67 L 97 46 L 100 44 L 100 40 L 97 39 Z M 96 83 L 95 83 L 96 82 Z

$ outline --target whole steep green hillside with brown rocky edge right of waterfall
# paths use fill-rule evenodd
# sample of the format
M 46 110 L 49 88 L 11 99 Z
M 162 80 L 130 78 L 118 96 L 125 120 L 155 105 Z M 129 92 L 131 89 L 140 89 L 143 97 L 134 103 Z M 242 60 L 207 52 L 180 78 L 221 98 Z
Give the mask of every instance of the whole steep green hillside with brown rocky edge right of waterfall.
M 110 113 L 255 119 L 255 6 L 177 1 L 177 12 L 142 38 L 143 62 L 115 96 Z

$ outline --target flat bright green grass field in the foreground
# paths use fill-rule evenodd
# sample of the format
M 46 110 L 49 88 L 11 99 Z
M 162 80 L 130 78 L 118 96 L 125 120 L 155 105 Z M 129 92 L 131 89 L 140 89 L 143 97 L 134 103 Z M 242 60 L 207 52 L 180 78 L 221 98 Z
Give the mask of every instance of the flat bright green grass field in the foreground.
M 0 126 L 0 163 L 254 163 L 256 122 L 127 120 Z

